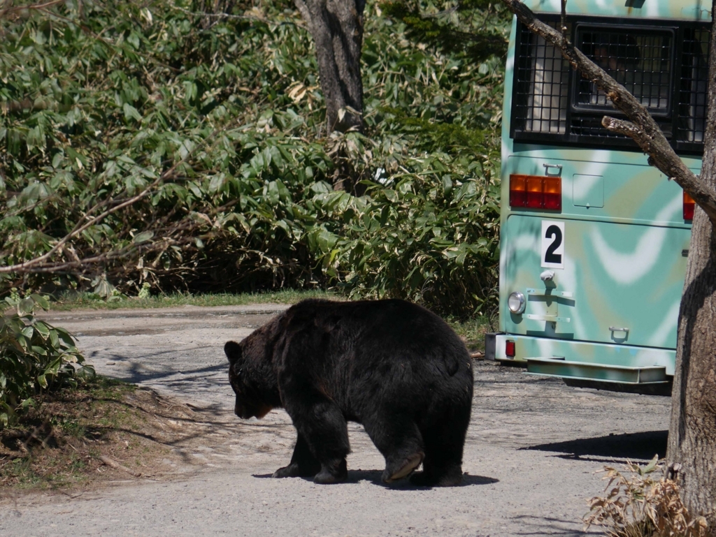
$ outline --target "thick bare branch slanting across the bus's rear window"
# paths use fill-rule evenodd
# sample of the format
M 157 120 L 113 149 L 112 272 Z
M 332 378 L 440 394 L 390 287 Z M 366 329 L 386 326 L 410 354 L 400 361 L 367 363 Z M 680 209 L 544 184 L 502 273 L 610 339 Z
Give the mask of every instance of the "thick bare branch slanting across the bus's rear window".
M 674 179 L 695 202 L 706 212 L 711 222 L 716 225 L 716 192 L 705 182 L 701 181 L 684 164 L 682 159 L 674 152 L 659 125 L 654 122 L 649 111 L 627 89 L 616 82 L 601 69 L 594 61 L 569 42 L 561 31 L 544 24 L 536 18 L 535 14 L 520 0 L 502 0 L 527 28 L 548 43 L 556 46 L 562 55 L 569 60 L 573 69 L 596 84 L 614 104 L 614 107 L 623 112 L 632 123 L 619 119 L 605 118 L 602 124 L 607 129 L 625 134 L 637 142 L 639 147 L 649 155 L 649 163 Z

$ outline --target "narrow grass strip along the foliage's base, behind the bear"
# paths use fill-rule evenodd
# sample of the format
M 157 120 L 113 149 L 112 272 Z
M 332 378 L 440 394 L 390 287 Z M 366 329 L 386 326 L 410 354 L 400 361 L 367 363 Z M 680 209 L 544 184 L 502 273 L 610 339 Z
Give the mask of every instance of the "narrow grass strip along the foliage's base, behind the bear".
M 240 294 L 207 294 L 189 295 L 174 293 L 171 295 L 156 295 L 150 297 L 127 297 L 117 295 L 108 299 L 101 298 L 92 292 L 62 295 L 57 301 L 50 303 L 54 311 L 68 310 L 117 310 L 120 308 L 146 309 L 151 307 L 177 307 L 177 306 L 245 306 L 248 304 L 294 304 L 306 298 L 325 298 L 339 300 L 339 295 L 329 291 L 319 290 L 280 290 L 260 293 Z

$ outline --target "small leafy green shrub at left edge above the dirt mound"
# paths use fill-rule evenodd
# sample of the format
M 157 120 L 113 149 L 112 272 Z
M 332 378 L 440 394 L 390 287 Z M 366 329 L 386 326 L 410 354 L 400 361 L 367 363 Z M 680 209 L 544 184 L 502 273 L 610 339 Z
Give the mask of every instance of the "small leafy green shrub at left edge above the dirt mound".
M 43 390 L 74 385 L 78 375 L 94 374 L 67 330 L 35 317 L 37 307 L 49 307 L 46 297 L 13 294 L 0 313 L 0 428 L 34 405 Z

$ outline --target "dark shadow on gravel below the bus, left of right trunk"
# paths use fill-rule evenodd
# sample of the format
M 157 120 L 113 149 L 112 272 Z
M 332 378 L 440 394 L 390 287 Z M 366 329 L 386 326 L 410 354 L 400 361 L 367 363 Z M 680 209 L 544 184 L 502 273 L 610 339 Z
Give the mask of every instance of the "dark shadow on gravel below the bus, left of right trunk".
M 616 459 L 649 460 L 667 454 L 667 430 L 649 430 L 644 433 L 580 438 L 566 442 L 531 445 L 523 450 L 553 451 L 564 453 L 571 458 L 609 457 Z

